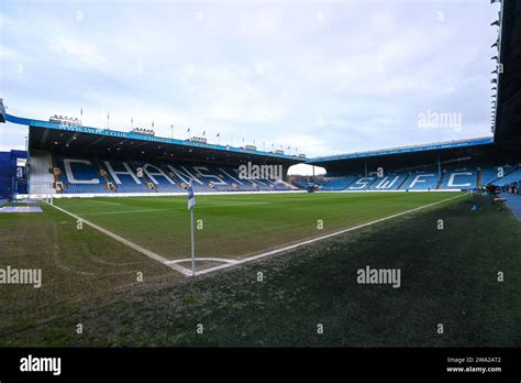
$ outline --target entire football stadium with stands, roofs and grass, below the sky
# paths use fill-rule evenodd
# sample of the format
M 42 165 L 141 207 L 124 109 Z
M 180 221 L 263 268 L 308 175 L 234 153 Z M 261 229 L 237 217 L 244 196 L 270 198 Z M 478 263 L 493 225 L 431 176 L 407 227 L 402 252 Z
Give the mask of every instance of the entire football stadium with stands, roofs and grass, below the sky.
M 27 133 L 0 153 L 0 344 L 520 347 L 521 8 L 500 7 L 487 136 L 308 156 L 2 100 Z

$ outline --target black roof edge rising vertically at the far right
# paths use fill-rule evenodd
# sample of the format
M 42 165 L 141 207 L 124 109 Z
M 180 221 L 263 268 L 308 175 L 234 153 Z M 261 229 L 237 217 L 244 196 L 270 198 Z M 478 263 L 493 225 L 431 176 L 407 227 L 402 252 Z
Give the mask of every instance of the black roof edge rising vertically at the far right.
M 492 25 L 498 25 L 494 22 Z M 499 67 L 495 112 L 495 141 L 521 142 L 521 2 L 503 0 L 499 14 Z M 494 54 L 492 54 L 494 55 Z M 494 88 L 492 88 L 494 89 Z M 495 101 L 492 101 L 494 103 Z

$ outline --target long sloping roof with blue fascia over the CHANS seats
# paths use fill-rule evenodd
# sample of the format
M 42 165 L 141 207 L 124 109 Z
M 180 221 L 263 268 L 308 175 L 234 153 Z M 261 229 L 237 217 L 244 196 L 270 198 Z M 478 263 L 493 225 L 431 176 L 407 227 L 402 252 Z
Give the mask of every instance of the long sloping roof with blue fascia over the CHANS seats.
M 5 121 L 30 127 L 31 149 L 88 150 L 114 155 L 145 154 L 185 161 L 214 160 L 232 163 L 253 161 L 287 166 L 306 161 L 296 155 L 21 118 L 7 113 L 0 100 L 0 122 Z

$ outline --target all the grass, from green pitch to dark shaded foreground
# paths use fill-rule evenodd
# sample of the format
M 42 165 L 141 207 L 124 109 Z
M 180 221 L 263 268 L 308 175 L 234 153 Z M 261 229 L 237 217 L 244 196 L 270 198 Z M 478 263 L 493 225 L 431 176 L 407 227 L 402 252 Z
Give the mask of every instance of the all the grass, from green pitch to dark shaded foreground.
M 198 254 L 240 259 L 453 196 L 201 196 L 196 245 Z M 483 210 L 470 211 L 474 203 Z M 162 255 L 187 254 L 186 198 L 56 204 Z M 487 196 L 462 196 L 195 280 L 44 210 L 0 216 L 0 265 L 43 270 L 40 289 L 0 286 L 2 346 L 521 344 L 521 226 Z M 204 238 L 210 233 L 213 240 Z M 366 265 L 401 269 L 401 287 L 357 284 Z

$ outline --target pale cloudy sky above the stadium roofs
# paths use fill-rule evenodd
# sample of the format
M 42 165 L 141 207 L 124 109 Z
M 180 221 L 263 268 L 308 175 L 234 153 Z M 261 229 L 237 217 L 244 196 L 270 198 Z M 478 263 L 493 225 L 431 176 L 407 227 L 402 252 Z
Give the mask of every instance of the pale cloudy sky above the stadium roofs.
M 0 1 L 8 112 L 308 156 L 490 134 L 498 4 Z M 453 113 L 450 123 L 422 124 Z M 440 114 L 437 114 L 440 116 Z M 2 124 L 0 150 L 26 131 Z

